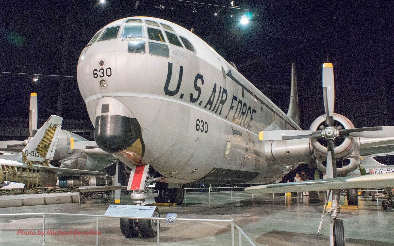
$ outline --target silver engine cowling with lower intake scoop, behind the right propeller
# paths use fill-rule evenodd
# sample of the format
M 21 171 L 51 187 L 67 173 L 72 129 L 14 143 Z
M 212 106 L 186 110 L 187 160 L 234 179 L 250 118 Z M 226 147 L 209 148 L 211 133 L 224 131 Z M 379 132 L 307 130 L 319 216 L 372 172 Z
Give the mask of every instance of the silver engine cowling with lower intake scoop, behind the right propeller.
M 346 117 L 340 114 L 333 114 L 334 127 L 336 129 L 354 129 L 353 123 Z M 321 130 L 321 126 L 325 127 L 325 115 L 322 115 L 310 126 L 310 131 Z M 326 167 L 323 166 L 323 161 L 327 159 L 327 145 L 323 137 L 311 139 L 314 157 L 316 157 L 316 165 L 319 170 L 325 172 Z M 338 174 L 346 174 L 353 172 L 360 161 L 359 141 L 357 137 L 338 137 L 335 139 L 335 157 L 336 160 L 349 159 L 349 164 L 341 168 L 337 168 Z

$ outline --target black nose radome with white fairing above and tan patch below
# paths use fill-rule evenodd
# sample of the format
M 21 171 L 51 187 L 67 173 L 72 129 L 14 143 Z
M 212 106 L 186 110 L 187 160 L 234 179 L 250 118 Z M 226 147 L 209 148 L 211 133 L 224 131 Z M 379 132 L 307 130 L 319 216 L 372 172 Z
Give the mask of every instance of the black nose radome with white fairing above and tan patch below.
M 113 98 L 99 100 L 97 107 L 101 110 L 97 111 L 101 113 L 96 114 L 95 141 L 105 152 L 141 163 L 145 151 L 141 126 L 136 118 L 119 115 L 118 109 L 125 112 L 120 106 Z

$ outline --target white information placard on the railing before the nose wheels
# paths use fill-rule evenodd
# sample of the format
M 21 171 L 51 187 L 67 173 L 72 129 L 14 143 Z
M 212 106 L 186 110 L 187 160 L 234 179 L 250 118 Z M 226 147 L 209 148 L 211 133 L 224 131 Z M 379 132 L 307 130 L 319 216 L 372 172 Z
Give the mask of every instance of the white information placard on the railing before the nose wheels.
M 150 218 L 156 206 L 115 205 L 111 204 L 104 215 Z

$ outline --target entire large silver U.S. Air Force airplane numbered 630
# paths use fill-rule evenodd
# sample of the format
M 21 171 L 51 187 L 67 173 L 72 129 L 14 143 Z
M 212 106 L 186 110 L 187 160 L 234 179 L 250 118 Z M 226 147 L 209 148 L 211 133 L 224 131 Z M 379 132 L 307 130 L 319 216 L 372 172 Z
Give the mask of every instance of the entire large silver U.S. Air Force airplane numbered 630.
M 333 201 L 338 189 L 373 187 L 364 181 L 346 187 L 346 181 L 336 177 L 355 170 L 360 156 L 392 152 L 394 138 L 381 137 L 394 137 L 393 129 L 354 129 L 348 118 L 334 114 L 333 67 L 325 63 L 326 114 L 312 123 L 310 131 L 302 131 L 295 70 L 292 73 L 285 114 L 191 31 L 158 18 L 130 17 L 94 35 L 80 55 L 77 78 L 95 126 L 95 141 L 125 164 L 136 204 L 155 196 L 158 202 L 169 199 L 180 204 L 184 183 L 280 185 L 276 183 L 285 174 L 310 159 L 326 171 L 327 153 L 331 160 L 327 167 L 334 166 L 327 168 L 327 175 L 333 179 L 318 189 L 336 189 Z M 260 131 L 264 131 L 261 140 Z M 349 164 L 336 169 L 332 162 L 342 159 L 349 159 Z M 379 178 L 380 187 L 393 184 L 392 174 L 388 175 Z M 158 194 L 147 189 L 154 180 Z M 303 183 L 305 191 L 313 186 L 311 181 Z M 249 192 L 265 192 L 261 186 L 250 188 L 254 190 Z M 335 206 L 333 202 L 333 226 Z M 138 227 L 136 222 L 121 219 L 123 235 L 154 237 L 153 220 L 138 222 Z M 336 234 L 340 245 L 343 224 L 342 230 L 337 224 L 335 231 L 342 231 Z

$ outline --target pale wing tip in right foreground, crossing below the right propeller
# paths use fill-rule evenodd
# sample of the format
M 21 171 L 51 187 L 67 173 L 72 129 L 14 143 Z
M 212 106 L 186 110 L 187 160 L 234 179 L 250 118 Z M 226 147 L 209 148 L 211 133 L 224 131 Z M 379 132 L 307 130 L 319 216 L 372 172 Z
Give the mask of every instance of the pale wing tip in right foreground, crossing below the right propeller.
M 394 173 L 256 185 L 245 188 L 245 191 L 253 194 L 272 194 L 281 192 L 326 191 L 331 189 L 359 189 L 371 187 L 394 187 Z

